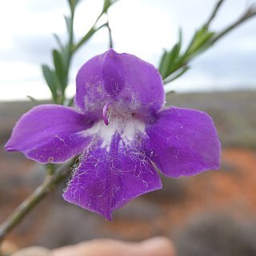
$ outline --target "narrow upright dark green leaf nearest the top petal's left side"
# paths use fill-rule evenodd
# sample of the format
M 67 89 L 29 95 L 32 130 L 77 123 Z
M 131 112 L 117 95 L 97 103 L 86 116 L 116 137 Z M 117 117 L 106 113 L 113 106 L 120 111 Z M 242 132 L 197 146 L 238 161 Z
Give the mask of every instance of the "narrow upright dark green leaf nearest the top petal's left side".
M 67 86 L 66 69 L 65 69 L 65 64 L 63 62 L 62 55 L 58 52 L 58 50 L 53 50 L 53 59 L 54 59 L 55 71 L 58 77 L 58 82 L 63 94 Z

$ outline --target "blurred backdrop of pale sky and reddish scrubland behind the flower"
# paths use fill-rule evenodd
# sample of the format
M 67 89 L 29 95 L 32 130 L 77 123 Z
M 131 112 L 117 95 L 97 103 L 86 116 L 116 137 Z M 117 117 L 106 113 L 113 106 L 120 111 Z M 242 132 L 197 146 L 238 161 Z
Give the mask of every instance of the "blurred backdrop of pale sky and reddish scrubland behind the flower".
M 120 0 L 110 8 L 114 49 L 158 65 L 164 48 L 184 43 L 209 17 L 215 0 Z M 227 0 L 213 22 L 229 25 L 256 1 Z M 102 0 L 78 6 L 75 34 L 92 26 Z M 40 64 L 50 63 L 51 34 L 65 37 L 64 0 L 10 0 L 0 9 L 0 222 L 36 186 L 45 172 L 19 153 L 3 147 L 14 123 L 34 106 L 26 98 L 50 98 Z M 74 56 L 68 94 L 75 91 L 80 66 L 107 50 L 108 32 L 100 30 Z M 179 256 L 256 255 L 256 18 L 222 38 L 196 58 L 192 68 L 170 83 L 176 94 L 168 105 L 208 112 L 222 141 L 222 168 L 190 178 L 164 178 L 163 190 L 135 199 L 114 214 L 114 221 L 62 200 L 65 183 L 42 202 L 9 237 L 18 246 L 63 246 L 91 238 L 140 241 L 167 235 Z

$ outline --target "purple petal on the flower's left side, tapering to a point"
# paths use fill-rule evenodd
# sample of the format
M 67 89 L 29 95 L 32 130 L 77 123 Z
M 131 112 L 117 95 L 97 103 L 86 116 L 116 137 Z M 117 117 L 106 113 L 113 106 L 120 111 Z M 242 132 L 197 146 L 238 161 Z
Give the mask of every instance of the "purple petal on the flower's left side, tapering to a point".
M 70 107 L 36 106 L 18 121 L 5 148 L 42 163 L 65 162 L 90 142 L 81 131 L 92 123 Z

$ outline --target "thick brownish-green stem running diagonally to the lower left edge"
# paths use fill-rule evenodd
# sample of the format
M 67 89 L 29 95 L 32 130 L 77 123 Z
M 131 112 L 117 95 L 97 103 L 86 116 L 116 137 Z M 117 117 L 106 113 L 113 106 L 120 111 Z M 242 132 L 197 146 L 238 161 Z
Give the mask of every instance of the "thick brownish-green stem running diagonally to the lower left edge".
M 6 238 L 6 235 L 22 222 L 23 218 L 34 209 L 34 206 L 37 206 L 47 194 L 53 191 L 62 180 L 68 177 L 73 164 L 73 161 L 68 162 L 58 167 L 53 175 L 47 175 L 44 182 L 10 214 L 6 221 L 0 226 L 0 245 L 4 238 Z

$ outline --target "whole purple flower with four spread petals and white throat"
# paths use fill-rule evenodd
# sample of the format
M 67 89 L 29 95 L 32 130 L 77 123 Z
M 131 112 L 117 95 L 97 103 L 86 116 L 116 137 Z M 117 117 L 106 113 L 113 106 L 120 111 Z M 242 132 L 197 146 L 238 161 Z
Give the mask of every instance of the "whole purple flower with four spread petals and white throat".
M 75 105 L 36 106 L 14 127 L 8 151 L 41 163 L 81 154 L 63 197 L 111 219 L 132 198 L 162 188 L 155 166 L 170 177 L 218 169 L 220 142 L 209 115 L 164 108 L 154 66 L 114 50 L 78 71 Z

